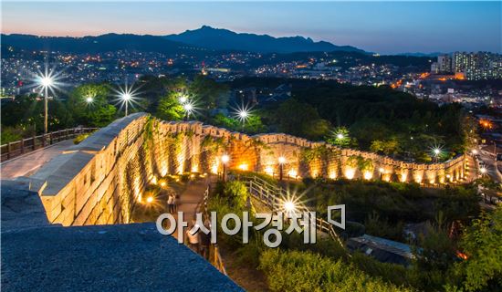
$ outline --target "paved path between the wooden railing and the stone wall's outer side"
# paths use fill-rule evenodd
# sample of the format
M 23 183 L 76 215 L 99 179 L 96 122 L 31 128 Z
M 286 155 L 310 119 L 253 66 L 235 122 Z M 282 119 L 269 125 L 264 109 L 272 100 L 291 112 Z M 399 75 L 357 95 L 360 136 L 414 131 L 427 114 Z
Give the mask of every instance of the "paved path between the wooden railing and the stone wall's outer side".
M 62 141 L 37 151 L 26 153 L 0 164 L 0 179 L 12 180 L 18 176 L 30 176 L 37 170 L 71 147 L 73 141 Z

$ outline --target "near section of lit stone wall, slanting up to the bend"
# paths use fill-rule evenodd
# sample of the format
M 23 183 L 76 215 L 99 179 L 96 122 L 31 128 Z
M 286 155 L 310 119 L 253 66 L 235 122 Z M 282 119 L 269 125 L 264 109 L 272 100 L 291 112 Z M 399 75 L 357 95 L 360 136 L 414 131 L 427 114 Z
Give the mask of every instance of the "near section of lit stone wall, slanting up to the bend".
M 30 179 L 47 218 L 63 225 L 129 223 L 152 163 L 144 147 L 148 116 L 116 120 L 48 162 Z M 38 182 L 38 183 L 37 183 Z

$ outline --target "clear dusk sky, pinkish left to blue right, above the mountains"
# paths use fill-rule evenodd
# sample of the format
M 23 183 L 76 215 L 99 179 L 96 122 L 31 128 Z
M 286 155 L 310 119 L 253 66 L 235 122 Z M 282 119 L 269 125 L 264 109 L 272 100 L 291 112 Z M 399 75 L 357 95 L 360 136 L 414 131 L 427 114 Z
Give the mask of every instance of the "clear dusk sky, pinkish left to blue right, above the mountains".
M 309 36 L 379 53 L 502 52 L 493 2 L 4 2 L 2 33 L 88 36 L 180 33 L 207 25 Z

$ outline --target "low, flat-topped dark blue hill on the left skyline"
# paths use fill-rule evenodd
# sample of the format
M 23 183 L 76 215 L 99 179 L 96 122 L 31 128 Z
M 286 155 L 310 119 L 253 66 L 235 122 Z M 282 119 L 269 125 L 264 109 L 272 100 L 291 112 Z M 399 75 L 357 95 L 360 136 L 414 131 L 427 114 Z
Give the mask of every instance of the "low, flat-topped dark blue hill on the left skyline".
M 197 50 L 162 36 L 107 34 L 102 36 L 2 35 L 2 45 L 26 50 L 55 50 L 71 53 L 99 53 L 122 49 L 165 54 Z

